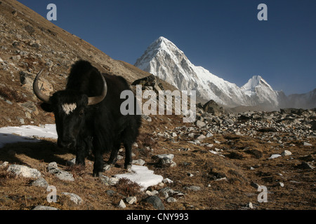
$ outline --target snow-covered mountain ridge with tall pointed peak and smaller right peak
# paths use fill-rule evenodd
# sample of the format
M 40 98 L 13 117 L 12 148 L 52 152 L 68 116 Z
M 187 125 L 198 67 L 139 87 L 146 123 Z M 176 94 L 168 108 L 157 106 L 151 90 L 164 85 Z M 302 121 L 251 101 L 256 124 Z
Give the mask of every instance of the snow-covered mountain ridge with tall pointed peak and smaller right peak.
M 195 66 L 171 41 L 159 37 L 134 64 L 139 69 L 162 78 L 179 90 L 196 90 L 197 97 L 213 99 L 226 106 L 267 106 L 276 109 L 286 98 L 261 77 L 254 76 L 242 87 L 215 76 L 202 66 Z

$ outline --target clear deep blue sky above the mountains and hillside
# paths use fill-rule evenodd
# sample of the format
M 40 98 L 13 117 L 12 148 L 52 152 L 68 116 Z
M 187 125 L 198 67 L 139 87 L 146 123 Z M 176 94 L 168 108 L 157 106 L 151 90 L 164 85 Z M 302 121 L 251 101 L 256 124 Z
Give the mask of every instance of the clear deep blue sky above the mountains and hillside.
M 244 85 L 262 76 L 285 94 L 316 88 L 315 0 L 18 0 L 114 59 L 134 64 L 164 36 L 190 61 Z M 259 3 L 268 20 L 259 21 Z

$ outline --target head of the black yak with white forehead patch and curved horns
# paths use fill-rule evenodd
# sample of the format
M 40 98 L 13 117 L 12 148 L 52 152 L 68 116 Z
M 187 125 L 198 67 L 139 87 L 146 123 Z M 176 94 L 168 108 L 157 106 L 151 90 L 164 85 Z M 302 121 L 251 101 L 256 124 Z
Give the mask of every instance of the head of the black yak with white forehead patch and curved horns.
M 81 128 L 84 128 L 88 107 L 103 101 L 107 94 L 107 83 L 103 75 L 103 91 L 99 96 L 88 97 L 76 90 L 60 90 L 51 97 L 41 92 L 39 77 L 43 69 L 37 73 L 33 83 L 34 94 L 43 104 L 44 111 L 53 112 L 55 115 L 56 130 L 58 134 L 58 146 L 72 148 L 76 146 L 76 139 Z

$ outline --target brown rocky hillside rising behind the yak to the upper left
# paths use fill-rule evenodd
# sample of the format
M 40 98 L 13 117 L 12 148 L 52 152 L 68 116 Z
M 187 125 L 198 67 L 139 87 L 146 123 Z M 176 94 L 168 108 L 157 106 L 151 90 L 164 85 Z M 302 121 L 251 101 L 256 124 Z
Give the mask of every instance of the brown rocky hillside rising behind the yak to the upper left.
M 53 123 L 51 114 L 38 108 L 32 80 L 41 68 L 45 68 L 43 87 L 46 93 L 61 90 L 70 66 L 77 59 L 90 61 L 101 72 L 124 76 L 130 83 L 150 75 L 131 64 L 112 59 L 18 1 L 1 1 L 0 127 Z M 164 85 L 171 87 L 168 83 Z

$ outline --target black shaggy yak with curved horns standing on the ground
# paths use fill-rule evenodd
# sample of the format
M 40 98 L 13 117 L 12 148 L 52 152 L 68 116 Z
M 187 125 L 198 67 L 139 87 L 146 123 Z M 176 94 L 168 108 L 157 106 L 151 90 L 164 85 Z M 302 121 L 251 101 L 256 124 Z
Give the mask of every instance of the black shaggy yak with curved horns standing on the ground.
M 131 148 L 139 134 L 141 117 L 122 115 L 120 94 L 130 90 L 121 76 L 100 73 L 90 62 L 79 60 L 72 65 L 65 90 L 51 97 L 43 94 L 38 80 L 33 89 L 41 101 L 41 108 L 55 115 L 58 146 L 74 148 L 76 164 L 84 165 L 89 150 L 95 157 L 93 176 L 103 172 L 103 153 L 111 152 L 108 164 L 117 161 L 121 144 L 125 147 L 124 168 L 131 167 Z M 134 101 L 136 102 L 136 100 Z

